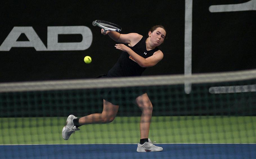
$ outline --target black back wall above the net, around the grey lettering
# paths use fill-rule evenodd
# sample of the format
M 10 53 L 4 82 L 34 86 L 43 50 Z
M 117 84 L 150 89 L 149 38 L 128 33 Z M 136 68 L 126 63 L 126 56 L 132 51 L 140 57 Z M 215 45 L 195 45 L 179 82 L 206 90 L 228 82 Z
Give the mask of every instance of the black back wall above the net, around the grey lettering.
M 192 73 L 256 68 L 256 11 L 209 11 L 211 5 L 245 2 L 248 0 L 193 1 Z M 120 25 L 123 34 L 137 32 L 144 36 L 153 25 L 164 25 L 168 32 L 160 46 L 164 59 L 143 75 L 184 73 L 185 1 L 8 1 L 0 8 L 0 45 L 14 27 L 32 27 L 45 47 L 49 26 L 86 26 L 92 33 L 92 43 L 86 50 L 1 50 L 0 82 L 94 78 L 107 73 L 121 52 L 114 48 L 116 42 L 92 26 L 96 19 Z M 60 34 L 58 42 L 80 42 L 83 38 Z M 17 39 L 28 40 L 24 33 Z M 91 64 L 83 61 L 87 55 L 92 57 Z

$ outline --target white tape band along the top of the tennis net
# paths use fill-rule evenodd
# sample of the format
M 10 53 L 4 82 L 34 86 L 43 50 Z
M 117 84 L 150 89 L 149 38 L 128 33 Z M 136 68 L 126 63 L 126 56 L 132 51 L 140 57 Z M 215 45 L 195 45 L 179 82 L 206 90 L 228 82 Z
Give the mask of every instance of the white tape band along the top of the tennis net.
M 256 69 L 223 73 L 0 83 L 0 92 L 217 83 L 256 79 Z

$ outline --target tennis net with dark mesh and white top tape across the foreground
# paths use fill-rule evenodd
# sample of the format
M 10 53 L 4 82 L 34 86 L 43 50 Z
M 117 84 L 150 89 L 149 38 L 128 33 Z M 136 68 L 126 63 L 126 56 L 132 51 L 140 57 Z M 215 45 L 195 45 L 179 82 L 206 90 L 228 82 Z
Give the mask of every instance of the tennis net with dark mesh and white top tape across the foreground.
M 191 83 L 189 94 L 184 91 L 184 83 Z M 109 88 L 112 91 L 107 95 L 120 105 L 114 121 L 81 126 L 69 140 L 63 140 L 61 130 L 68 115 L 101 113 L 102 97 Z M 151 140 L 160 144 L 256 143 L 256 70 L 246 70 L 0 83 L 0 145 L 138 143 L 141 110 L 134 99 L 141 90 L 147 92 L 153 104 Z M 136 146 L 131 149 L 136 152 Z M 7 152 L 1 152 L 1 158 L 8 158 Z M 250 158 L 254 150 L 244 152 Z M 217 154 L 222 154 L 221 150 Z M 36 155 L 32 154 L 32 158 Z M 155 158 L 164 158 L 161 155 Z

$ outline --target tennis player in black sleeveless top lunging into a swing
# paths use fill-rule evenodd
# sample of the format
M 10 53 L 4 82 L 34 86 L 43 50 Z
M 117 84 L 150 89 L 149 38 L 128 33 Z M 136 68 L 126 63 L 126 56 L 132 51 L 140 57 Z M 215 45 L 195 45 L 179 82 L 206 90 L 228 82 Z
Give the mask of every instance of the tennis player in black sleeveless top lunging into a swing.
M 148 32 L 148 37 L 137 33 L 120 34 L 115 31 L 101 30 L 118 43 L 115 48 L 123 52 L 118 62 L 108 71 L 106 77 L 141 76 L 146 67 L 155 66 L 163 59 L 163 53 L 157 46 L 161 45 L 166 37 L 166 30 L 162 25 L 156 25 Z M 126 45 L 125 45 L 126 44 Z M 142 110 L 140 120 L 140 143 L 137 152 L 162 151 L 163 148 L 155 146 L 149 139 L 149 127 L 152 116 L 152 103 L 146 92 L 142 92 L 136 99 L 136 104 Z M 93 123 L 110 123 L 114 120 L 119 105 L 110 98 L 103 99 L 102 113 L 90 114 L 82 118 L 69 115 L 67 123 L 62 129 L 62 137 L 68 140 L 70 135 L 80 130 L 78 127 Z

